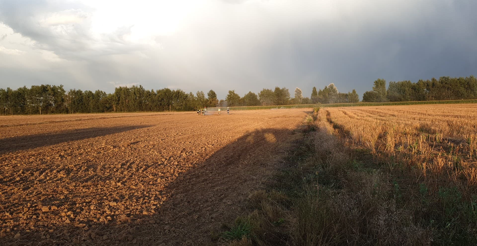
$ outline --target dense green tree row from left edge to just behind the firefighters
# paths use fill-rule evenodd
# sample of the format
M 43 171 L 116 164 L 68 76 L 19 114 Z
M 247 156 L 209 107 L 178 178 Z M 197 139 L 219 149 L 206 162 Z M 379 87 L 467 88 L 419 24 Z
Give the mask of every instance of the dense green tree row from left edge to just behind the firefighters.
M 120 86 L 113 93 L 76 89 L 66 92 L 63 85 L 49 84 L 0 89 L 2 114 L 189 111 L 217 102 L 213 90 L 206 97 L 204 92 L 193 94 L 169 88 L 149 91 L 141 85 Z

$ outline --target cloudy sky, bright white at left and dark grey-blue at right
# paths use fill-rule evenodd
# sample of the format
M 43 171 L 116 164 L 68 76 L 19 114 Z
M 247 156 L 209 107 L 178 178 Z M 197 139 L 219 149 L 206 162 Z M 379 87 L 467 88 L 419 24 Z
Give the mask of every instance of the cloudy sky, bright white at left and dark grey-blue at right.
M 0 88 L 240 95 L 477 75 L 475 0 L 0 0 Z

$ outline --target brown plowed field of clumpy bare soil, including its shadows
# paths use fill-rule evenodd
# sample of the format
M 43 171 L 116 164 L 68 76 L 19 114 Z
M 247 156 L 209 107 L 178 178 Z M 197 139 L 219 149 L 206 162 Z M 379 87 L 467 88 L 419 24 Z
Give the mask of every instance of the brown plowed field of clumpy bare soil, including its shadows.
M 0 117 L 0 241 L 214 244 L 307 111 Z

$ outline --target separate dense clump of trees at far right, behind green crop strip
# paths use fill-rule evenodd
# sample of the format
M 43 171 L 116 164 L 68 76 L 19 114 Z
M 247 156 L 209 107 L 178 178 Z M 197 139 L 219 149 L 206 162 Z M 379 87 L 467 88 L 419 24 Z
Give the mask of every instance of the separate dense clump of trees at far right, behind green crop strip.
M 440 77 L 438 80 L 389 82 L 377 79 L 372 91 L 364 92 L 363 102 L 406 102 L 477 99 L 477 79 L 469 77 Z

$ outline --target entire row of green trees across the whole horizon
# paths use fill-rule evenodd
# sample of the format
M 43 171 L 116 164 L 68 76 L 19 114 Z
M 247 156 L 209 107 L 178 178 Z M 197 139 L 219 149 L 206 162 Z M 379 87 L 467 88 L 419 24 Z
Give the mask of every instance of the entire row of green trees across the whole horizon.
M 225 99 L 218 100 L 210 90 L 207 96 L 198 91 L 186 93 L 180 89 L 145 90 L 139 86 L 120 86 L 113 93 L 101 90 L 66 91 L 63 85 L 32 85 L 17 90 L 0 89 L 0 114 L 44 114 L 44 113 L 103 113 L 139 111 L 192 111 L 203 107 L 259 106 L 314 103 L 357 103 L 359 96 L 352 92 L 339 92 L 331 83 L 323 89 L 313 87 L 310 97 L 303 97 L 296 88 L 291 97 L 289 89 L 264 88 L 258 94 L 248 92 L 240 96 L 235 90 L 228 91 Z M 418 82 L 389 82 L 384 79 L 374 81 L 371 91 L 364 92 L 363 102 L 405 102 L 477 99 L 477 79 L 469 77 L 440 77 L 438 80 Z

